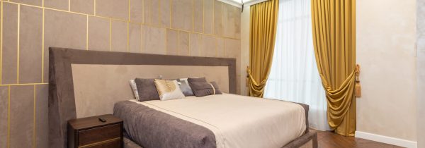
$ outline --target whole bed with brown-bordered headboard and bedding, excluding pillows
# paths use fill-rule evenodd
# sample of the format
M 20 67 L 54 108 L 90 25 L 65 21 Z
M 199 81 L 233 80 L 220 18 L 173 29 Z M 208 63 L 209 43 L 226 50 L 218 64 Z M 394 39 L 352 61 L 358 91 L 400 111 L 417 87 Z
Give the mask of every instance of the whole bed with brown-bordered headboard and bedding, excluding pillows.
M 307 105 L 236 95 L 234 58 L 55 47 L 49 54 L 50 147 L 67 147 L 70 119 L 107 113 L 123 119 L 125 147 L 317 147 Z M 207 77 L 225 94 L 129 100 L 130 78 L 157 75 Z

